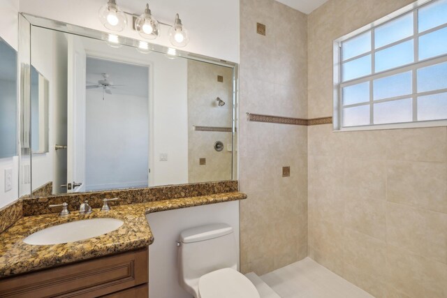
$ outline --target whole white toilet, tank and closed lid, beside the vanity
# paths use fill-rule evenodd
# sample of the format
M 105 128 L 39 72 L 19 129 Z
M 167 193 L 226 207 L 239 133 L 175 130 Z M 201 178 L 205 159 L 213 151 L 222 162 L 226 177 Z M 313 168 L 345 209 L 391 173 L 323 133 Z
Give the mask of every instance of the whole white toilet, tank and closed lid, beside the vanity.
M 260 298 L 247 277 L 237 271 L 233 228 L 202 225 L 180 234 L 179 283 L 195 298 Z

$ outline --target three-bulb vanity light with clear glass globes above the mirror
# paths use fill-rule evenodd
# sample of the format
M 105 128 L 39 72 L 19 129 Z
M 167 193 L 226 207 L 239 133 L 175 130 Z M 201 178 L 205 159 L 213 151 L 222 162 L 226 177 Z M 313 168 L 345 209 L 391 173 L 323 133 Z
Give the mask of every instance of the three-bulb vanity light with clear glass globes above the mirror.
M 142 15 L 135 15 L 133 13 L 126 13 L 119 9 L 116 0 L 108 0 L 99 10 L 99 19 L 105 28 L 112 31 L 122 31 L 127 25 L 127 15 L 133 17 L 133 29 L 145 39 L 155 39 L 160 36 L 160 24 L 169 26 L 169 40 L 175 47 L 184 47 L 189 43 L 188 31 L 184 28 L 179 14 L 175 15 L 174 24 L 166 24 L 157 21 L 149 9 L 149 4 L 146 4 L 145 12 Z

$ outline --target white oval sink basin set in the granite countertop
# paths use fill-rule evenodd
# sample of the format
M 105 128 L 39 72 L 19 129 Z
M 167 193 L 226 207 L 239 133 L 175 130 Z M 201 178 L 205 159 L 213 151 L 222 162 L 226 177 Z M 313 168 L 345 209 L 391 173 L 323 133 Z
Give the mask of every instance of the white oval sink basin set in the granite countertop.
M 33 245 L 52 245 L 93 238 L 117 230 L 123 221 L 116 218 L 91 218 L 53 225 L 29 235 L 23 241 Z

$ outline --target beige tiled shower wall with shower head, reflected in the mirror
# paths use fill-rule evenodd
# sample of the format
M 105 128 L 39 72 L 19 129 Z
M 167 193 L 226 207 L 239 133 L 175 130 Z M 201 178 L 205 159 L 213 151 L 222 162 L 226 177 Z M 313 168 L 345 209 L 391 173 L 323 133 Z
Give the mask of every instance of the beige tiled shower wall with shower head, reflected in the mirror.
M 218 82 L 217 76 L 223 78 Z M 225 105 L 217 105 L 219 97 Z M 188 61 L 188 181 L 230 180 L 233 126 L 233 69 L 202 61 Z M 228 128 L 223 131 L 198 131 L 195 126 Z M 223 150 L 214 150 L 221 141 Z M 230 147 L 228 147 L 228 145 Z M 200 165 L 205 158 L 205 165 Z

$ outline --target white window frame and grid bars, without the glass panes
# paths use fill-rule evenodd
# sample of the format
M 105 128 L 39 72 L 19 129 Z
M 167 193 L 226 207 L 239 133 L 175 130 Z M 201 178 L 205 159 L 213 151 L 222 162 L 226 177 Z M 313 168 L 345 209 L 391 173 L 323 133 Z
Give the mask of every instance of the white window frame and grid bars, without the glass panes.
M 433 126 L 447 126 L 447 119 L 439 119 L 439 120 L 425 120 L 425 121 L 417 121 L 417 99 L 420 96 L 427 96 L 432 94 L 441 94 L 446 93 L 447 88 L 445 89 L 437 89 L 434 91 L 425 91 L 417 93 L 417 71 L 420 68 L 424 68 L 427 66 L 434 66 L 436 64 L 441 64 L 443 62 L 447 62 L 447 54 L 442 54 L 436 57 L 431 57 L 428 59 L 419 60 L 419 46 L 418 40 L 420 36 L 425 36 L 434 31 L 439 31 L 441 29 L 447 28 L 447 23 L 441 24 L 437 27 L 425 30 L 423 32 L 418 31 L 418 9 L 423 8 L 423 6 L 427 6 L 430 3 L 433 3 L 437 0 L 419 0 L 414 3 L 411 3 L 408 6 L 404 6 L 399 10 L 396 10 L 385 17 L 382 17 L 375 22 L 367 24 L 365 27 L 357 29 L 351 33 L 342 36 L 341 38 L 337 38 L 333 43 L 333 53 L 334 53 L 334 69 L 333 69 L 333 129 L 334 131 L 365 131 L 365 130 L 379 130 L 379 129 L 393 129 L 393 128 L 415 128 L 415 127 L 433 127 Z M 393 43 L 389 43 L 388 45 L 383 45 L 377 49 L 374 48 L 374 40 L 375 40 L 375 29 L 381 27 L 382 25 L 387 24 L 388 22 L 393 22 L 399 17 L 404 17 L 406 14 L 413 15 L 413 34 L 411 36 L 407 36 L 406 38 L 402 38 L 400 40 L 394 41 Z M 362 33 L 366 33 L 367 31 L 371 32 L 371 50 L 368 52 L 358 54 L 355 57 L 350 57 L 349 59 L 342 59 L 342 43 L 351 40 L 352 38 L 356 38 L 360 36 Z M 404 64 L 402 66 L 397 66 L 395 68 L 389 68 L 387 70 L 382 70 L 380 72 L 375 72 L 375 53 L 381 50 L 388 49 L 395 45 L 400 45 L 409 40 L 413 40 L 413 62 L 411 64 Z M 366 57 L 371 55 L 371 74 L 364 75 L 361 77 L 356 77 L 355 79 L 346 80 L 342 82 L 342 65 L 349 61 L 353 61 L 359 59 L 361 57 Z M 373 89 L 373 81 L 383 78 L 390 77 L 392 75 L 397 75 L 400 73 L 406 73 L 411 71 L 412 73 L 412 92 L 411 94 L 406 94 L 403 96 L 394 96 L 390 98 L 383 98 L 380 100 L 374 100 L 374 89 Z M 343 105 L 343 96 L 342 89 L 344 87 L 353 86 L 356 84 L 369 82 L 369 100 L 364 101 L 362 103 L 355 103 L 351 105 Z M 413 119 L 411 122 L 402 122 L 402 123 L 391 123 L 391 124 L 373 124 L 374 122 L 374 103 L 385 103 L 394 100 L 400 100 L 404 98 L 412 99 L 412 112 Z M 369 124 L 363 126 L 343 126 L 343 108 L 344 107 L 358 107 L 358 106 L 369 106 Z

